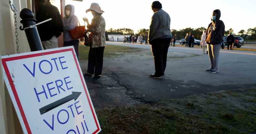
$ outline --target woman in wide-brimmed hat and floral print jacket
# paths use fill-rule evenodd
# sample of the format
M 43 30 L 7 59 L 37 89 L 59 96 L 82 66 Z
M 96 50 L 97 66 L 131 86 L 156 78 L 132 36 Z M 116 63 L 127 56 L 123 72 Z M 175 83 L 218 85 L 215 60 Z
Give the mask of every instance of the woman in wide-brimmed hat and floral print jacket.
M 94 74 L 92 80 L 98 80 L 101 78 L 101 72 L 103 67 L 103 53 L 106 46 L 106 37 L 105 37 L 105 19 L 101 16 L 104 11 L 101 10 L 101 7 L 97 3 L 92 3 L 91 7 L 86 10 L 87 12 L 91 12 L 93 15 L 93 19 L 91 24 L 87 18 L 83 20 L 87 23 L 87 32 L 92 33 L 92 42 L 89 50 L 88 57 L 88 70 L 87 73 L 84 74 L 84 77 L 91 77 Z

